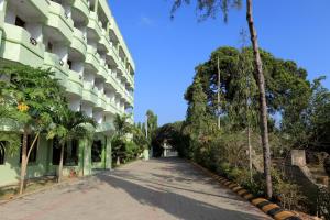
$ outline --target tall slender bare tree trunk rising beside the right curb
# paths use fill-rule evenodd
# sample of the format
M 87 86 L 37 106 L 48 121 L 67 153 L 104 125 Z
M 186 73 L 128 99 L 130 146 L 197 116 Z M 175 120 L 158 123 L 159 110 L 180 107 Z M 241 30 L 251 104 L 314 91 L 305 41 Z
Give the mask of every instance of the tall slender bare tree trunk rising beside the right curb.
M 260 129 L 262 135 L 263 154 L 264 154 L 264 173 L 266 177 L 266 194 L 268 198 L 273 196 L 272 176 L 271 176 L 271 148 L 268 141 L 268 124 L 267 124 L 267 103 L 265 94 L 265 77 L 263 73 L 263 64 L 258 51 L 257 34 L 253 21 L 252 0 L 246 0 L 246 20 L 249 24 L 251 42 L 254 53 L 254 62 L 256 66 L 256 80 L 260 91 Z

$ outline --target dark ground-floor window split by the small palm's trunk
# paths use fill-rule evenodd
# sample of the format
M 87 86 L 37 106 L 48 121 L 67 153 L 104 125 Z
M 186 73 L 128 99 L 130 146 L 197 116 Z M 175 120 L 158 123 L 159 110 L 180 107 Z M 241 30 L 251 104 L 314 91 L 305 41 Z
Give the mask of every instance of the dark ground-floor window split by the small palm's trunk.
M 65 166 L 78 165 L 78 148 L 79 144 L 77 140 L 73 140 L 70 144 L 64 146 L 63 164 Z M 53 140 L 53 165 L 59 165 L 61 160 L 61 145 L 57 139 Z

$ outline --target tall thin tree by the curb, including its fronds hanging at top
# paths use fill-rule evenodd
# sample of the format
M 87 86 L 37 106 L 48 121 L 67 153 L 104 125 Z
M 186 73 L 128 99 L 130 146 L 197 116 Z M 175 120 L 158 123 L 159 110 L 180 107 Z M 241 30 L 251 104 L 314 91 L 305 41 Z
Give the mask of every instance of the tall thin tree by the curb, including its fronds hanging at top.
M 174 18 L 174 13 L 178 8 L 182 7 L 183 3 L 190 3 L 191 0 L 174 0 L 174 4 L 172 8 L 172 18 Z M 218 12 L 223 13 L 224 22 L 228 21 L 228 12 L 230 8 L 234 7 L 240 9 L 242 7 L 242 0 L 196 0 L 197 9 L 201 11 L 201 20 L 207 18 L 215 18 Z M 267 197 L 271 198 L 273 196 L 273 187 L 272 187 L 272 176 L 271 176 L 271 148 L 270 148 L 270 139 L 268 139 L 268 124 L 267 124 L 267 103 L 266 103 L 266 92 L 265 92 L 265 77 L 263 72 L 263 63 L 260 55 L 258 41 L 256 29 L 253 20 L 253 0 L 246 0 L 246 21 L 250 31 L 251 43 L 253 47 L 254 54 L 254 64 L 256 68 L 255 79 L 258 86 L 260 94 L 260 129 L 262 136 L 262 145 L 263 145 L 263 155 L 264 155 L 264 173 L 266 178 L 266 193 Z

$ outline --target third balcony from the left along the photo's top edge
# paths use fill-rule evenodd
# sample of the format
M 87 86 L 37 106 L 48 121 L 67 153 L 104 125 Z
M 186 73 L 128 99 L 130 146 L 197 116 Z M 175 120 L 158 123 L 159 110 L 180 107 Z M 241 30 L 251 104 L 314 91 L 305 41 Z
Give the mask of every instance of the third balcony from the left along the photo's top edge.
M 89 8 L 87 0 L 75 0 L 72 7 L 72 16 L 76 23 L 86 26 L 88 24 Z

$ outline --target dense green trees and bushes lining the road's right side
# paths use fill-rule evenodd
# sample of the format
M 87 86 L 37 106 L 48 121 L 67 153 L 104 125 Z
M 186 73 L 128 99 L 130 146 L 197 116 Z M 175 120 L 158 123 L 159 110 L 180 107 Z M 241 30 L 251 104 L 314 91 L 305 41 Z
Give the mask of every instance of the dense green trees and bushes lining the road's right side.
M 327 117 L 330 92 L 322 87 L 323 77 L 309 81 L 307 72 L 295 62 L 276 58 L 263 50 L 261 57 L 273 160 L 272 199 L 288 209 L 312 212 L 300 187 L 287 178 L 275 162 L 287 158 L 293 148 L 330 153 L 330 118 Z M 254 72 L 252 48 L 215 51 L 209 61 L 196 67 L 194 81 L 186 90 L 185 121 L 157 129 L 154 147 L 162 151 L 166 140 L 182 157 L 237 182 L 255 195 L 266 196 Z M 329 168 L 327 164 L 324 167 Z

